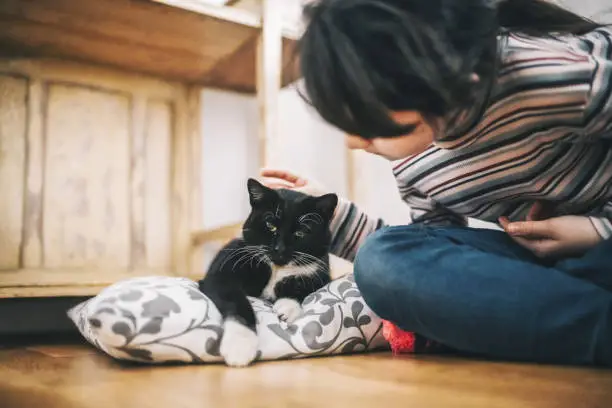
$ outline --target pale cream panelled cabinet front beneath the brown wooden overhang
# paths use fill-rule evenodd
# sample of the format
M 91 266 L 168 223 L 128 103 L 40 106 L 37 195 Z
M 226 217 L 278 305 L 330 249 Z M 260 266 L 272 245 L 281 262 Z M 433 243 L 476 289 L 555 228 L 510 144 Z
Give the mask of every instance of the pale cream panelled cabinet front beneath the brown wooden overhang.
M 199 95 L 56 61 L 0 61 L 0 297 L 189 272 Z

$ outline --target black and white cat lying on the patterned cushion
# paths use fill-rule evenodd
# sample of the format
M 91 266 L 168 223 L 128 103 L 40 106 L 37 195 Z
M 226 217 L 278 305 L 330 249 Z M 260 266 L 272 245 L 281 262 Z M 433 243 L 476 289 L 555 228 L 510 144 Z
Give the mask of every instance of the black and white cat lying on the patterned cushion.
M 247 296 L 273 302 L 282 320 L 293 322 L 306 296 L 330 281 L 329 224 L 335 194 L 313 197 L 273 190 L 249 179 L 251 214 L 242 238 L 227 244 L 199 282 L 223 316 L 220 353 L 230 366 L 249 365 L 258 340 Z

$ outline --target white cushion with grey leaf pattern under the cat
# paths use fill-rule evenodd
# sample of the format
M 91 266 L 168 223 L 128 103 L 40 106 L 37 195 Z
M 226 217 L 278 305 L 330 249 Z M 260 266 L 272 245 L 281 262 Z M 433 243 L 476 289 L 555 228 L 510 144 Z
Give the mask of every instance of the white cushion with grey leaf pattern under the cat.
M 258 360 L 346 354 L 388 348 L 382 321 L 352 275 L 303 302 L 304 314 L 281 321 L 272 305 L 250 299 L 257 317 Z M 221 315 L 195 282 L 141 277 L 118 282 L 68 311 L 81 334 L 111 357 L 146 363 L 222 362 Z

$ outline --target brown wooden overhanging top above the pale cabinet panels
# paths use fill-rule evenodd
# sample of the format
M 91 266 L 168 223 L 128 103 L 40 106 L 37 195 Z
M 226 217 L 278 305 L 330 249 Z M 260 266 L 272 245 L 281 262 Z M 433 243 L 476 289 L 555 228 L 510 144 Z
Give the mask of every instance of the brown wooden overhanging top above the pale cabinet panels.
M 218 83 L 210 73 L 245 44 L 254 48 L 260 27 L 253 13 L 197 0 L 5 0 L 0 55 L 69 59 L 234 89 L 244 81 L 234 71 Z M 299 35 L 282 30 L 291 43 Z M 247 85 L 236 89 L 254 92 L 254 64 L 241 62 L 252 70 Z

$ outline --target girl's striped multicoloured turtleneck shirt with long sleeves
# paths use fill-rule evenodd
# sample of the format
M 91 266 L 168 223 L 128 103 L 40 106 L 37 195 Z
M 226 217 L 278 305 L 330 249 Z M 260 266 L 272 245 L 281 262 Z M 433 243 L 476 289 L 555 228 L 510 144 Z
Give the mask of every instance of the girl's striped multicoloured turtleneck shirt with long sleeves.
M 412 223 L 524 220 L 536 201 L 554 216 L 590 217 L 612 236 L 612 30 L 500 39 L 498 78 L 481 108 L 429 149 L 391 162 Z M 352 260 L 384 222 L 341 200 L 332 252 Z

